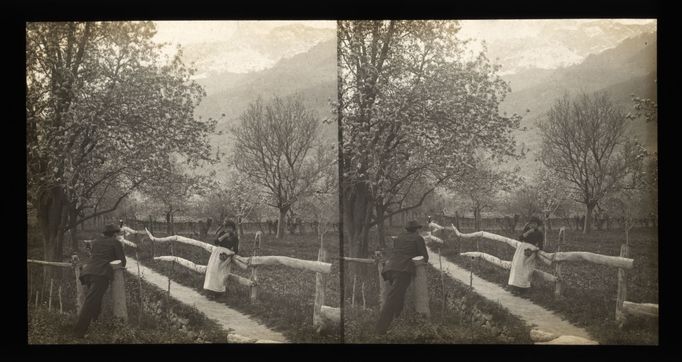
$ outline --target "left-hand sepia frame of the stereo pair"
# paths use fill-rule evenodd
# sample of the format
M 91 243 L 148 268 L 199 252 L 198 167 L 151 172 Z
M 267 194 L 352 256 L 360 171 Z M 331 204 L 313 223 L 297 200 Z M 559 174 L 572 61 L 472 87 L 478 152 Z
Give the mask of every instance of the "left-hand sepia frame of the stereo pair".
M 27 23 L 29 344 L 340 343 L 336 46 Z

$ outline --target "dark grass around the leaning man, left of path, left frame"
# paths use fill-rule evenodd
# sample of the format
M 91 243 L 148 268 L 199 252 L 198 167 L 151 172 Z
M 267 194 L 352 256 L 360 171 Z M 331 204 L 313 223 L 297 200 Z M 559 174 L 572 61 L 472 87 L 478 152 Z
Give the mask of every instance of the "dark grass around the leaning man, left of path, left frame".
M 88 235 L 90 237 L 94 236 Z M 29 232 L 29 258 L 43 259 L 40 241 L 35 232 Z M 85 255 L 79 255 L 85 260 Z M 44 277 L 47 268 L 52 269 L 53 296 L 49 306 L 49 279 Z M 28 264 L 27 316 L 29 344 L 184 344 L 197 343 L 196 337 L 205 343 L 226 343 L 227 331 L 216 322 L 206 318 L 197 309 L 173 299 L 165 305 L 164 291 L 142 282 L 142 294 L 146 309 L 140 315 L 139 284 L 137 278 L 126 278 L 126 305 L 128 322 L 112 318 L 109 293 L 105 294 L 102 314 L 90 324 L 85 339 L 72 336 L 76 315 L 76 281 L 71 268 L 46 267 Z M 62 313 L 59 310 L 58 288 L 62 287 Z M 38 295 L 38 304 L 35 299 Z M 155 305 L 151 305 L 155 304 Z M 170 323 L 165 314 L 156 315 L 149 311 L 156 305 L 162 311 L 186 319 L 185 331 Z

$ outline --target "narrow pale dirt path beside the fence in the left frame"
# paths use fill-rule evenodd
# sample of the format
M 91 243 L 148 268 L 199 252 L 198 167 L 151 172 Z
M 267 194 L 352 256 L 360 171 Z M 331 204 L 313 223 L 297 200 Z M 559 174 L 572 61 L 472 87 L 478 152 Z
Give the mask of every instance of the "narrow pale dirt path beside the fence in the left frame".
M 126 257 L 126 271 L 137 278 L 137 260 L 133 257 Z M 156 287 L 167 290 L 168 277 L 155 272 L 152 269 L 140 264 L 142 279 Z M 244 315 L 222 303 L 214 302 L 199 294 L 192 288 L 177 284 L 171 280 L 171 297 L 178 301 L 193 306 L 204 313 L 206 317 L 216 321 L 223 329 L 232 329 L 231 337 L 235 341 L 252 341 L 264 343 L 288 342 L 279 332 L 275 332 L 266 326 L 256 322 L 247 315 Z M 236 336 L 233 336 L 234 333 Z

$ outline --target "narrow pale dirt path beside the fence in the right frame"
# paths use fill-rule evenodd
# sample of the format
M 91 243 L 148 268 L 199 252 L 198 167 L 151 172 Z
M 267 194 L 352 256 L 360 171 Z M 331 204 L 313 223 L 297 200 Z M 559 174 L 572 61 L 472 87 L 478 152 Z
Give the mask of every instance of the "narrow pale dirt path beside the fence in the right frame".
M 438 254 L 427 248 L 429 252 L 429 264 L 436 269 L 439 269 Z M 443 262 L 443 272 L 450 277 L 469 285 L 470 273 L 469 271 L 457 266 L 445 258 L 441 259 Z M 528 299 L 517 297 L 504 288 L 495 283 L 481 279 L 476 274 L 473 276 L 472 282 L 474 291 L 486 299 L 499 302 L 510 313 L 521 318 L 532 328 L 537 328 L 542 331 L 555 334 L 557 336 L 576 336 L 593 341 L 594 338 L 590 334 L 579 327 L 563 320 L 560 316 L 551 312 Z M 585 341 L 585 344 L 588 342 Z

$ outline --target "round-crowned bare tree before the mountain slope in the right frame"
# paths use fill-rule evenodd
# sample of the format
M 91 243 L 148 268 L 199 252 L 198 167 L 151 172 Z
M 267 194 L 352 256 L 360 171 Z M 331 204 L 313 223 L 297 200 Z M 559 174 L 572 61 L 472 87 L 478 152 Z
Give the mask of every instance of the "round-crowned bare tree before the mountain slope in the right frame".
M 557 100 L 540 124 L 542 163 L 585 205 L 584 233 L 598 202 L 619 190 L 641 162 L 641 146 L 627 137 L 627 119 L 606 93 L 582 93 Z

